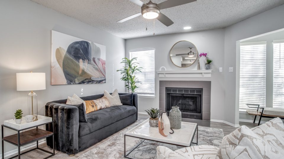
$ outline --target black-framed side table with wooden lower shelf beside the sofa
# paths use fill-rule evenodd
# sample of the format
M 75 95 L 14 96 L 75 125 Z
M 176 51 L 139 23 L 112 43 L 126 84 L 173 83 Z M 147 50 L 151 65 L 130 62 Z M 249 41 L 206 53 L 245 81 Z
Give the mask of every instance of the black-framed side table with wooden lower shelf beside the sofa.
M 50 132 L 50 131 L 46 131 L 46 130 L 42 130 L 42 129 L 38 128 L 38 126 L 46 125 L 46 124 L 49 124 L 49 123 L 54 124 L 54 122 L 52 121 L 52 119 L 51 119 L 51 121 L 50 121 L 50 119 L 40 120 L 41 119 L 40 115 L 38 115 L 38 117 L 39 117 L 38 121 L 26 123 L 26 124 L 28 124 L 28 127 L 27 127 L 27 125 L 25 125 L 25 123 L 22 124 L 22 125 L 13 124 L 11 122 L 11 120 L 5 121 L 5 122 L 10 121 L 10 123 L 9 123 L 10 126 L 1 125 L 1 128 L 2 128 L 1 129 L 2 130 L 2 158 L 3 159 L 4 159 L 4 141 L 18 147 L 18 155 L 13 156 L 11 158 L 15 158 L 15 157 L 18 156 L 18 158 L 20 159 L 22 154 L 28 153 L 28 152 L 36 150 L 36 149 L 42 150 L 46 153 L 51 154 L 51 155 L 47 156 L 46 158 L 49 158 L 49 157 L 55 155 L 54 130 L 52 130 L 52 132 Z M 5 122 L 4 122 L 4 124 L 5 124 Z M 22 128 L 21 128 L 21 126 L 22 126 Z M 4 127 L 17 131 L 17 134 L 4 137 L 4 134 L 3 134 L 3 128 Z M 17 128 L 15 128 L 15 127 L 17 127 Z M 34 127 L 36 127 L 36 128 L 34 128 Z M 30 128 L 34 128 L 34 129 L 30 129 Z M 30 129 L 30 130 L 27 130 L 27 129 Z M 27 130 L 27 131 L 20 132 L 22 130 Z M 52 138 L 53 138 L 53 152 L 49 152 L 47 150 L 44 150 L 44 149 L 38 147 L 38 140 L 41 140 L 41 139 L 44 139 L 44 138 L 47 138 L 47 137 L 50 137 L 50 136 L 52 136 Z M 23 153 L 20 152 L 21 146 L 33 143 L 35 141 L 36 141 L 36 148 L 33 148 L 33 149 L 28 150 L 28 151 L 23 152 Z M 8 159 L 11 159 L 11 158 L 8 158 Z M 44 158 L 44 159 L 46 159 L 46 158 Z

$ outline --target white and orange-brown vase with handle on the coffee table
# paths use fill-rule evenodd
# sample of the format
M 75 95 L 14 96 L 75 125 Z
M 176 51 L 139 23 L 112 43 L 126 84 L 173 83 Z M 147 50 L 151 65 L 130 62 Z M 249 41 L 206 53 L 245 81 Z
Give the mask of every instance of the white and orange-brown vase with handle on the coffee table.
M 159 133 L 163 136 L 168 136 L 171 130 L 170 120 L 167 116 L 167 112 L 163 112 L 161 117 L 159 118 Z

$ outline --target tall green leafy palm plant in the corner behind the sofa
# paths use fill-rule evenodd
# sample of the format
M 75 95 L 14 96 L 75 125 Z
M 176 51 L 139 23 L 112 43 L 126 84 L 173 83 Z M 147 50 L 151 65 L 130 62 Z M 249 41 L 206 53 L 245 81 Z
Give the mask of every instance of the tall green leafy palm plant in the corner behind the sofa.
M 123 74 L 122 78 L 120 80 L 126 81 L 125 87 L 128 89 L 128 93 L 134 93 L 135 89 L 138 88 L 136 84 L 141 83 L 138 81 L 137 77 L 135 75 L 137 72 L 141 72 L 142 67 L 138 67 L 137 62 L 134 62 L 137 60 L 137 57 L 134 57 L 132 59 L 123 58 L 122 62 L 125 63 L 125 66 L 122 69 L 116 70 L 119 71 L 120 74 Z

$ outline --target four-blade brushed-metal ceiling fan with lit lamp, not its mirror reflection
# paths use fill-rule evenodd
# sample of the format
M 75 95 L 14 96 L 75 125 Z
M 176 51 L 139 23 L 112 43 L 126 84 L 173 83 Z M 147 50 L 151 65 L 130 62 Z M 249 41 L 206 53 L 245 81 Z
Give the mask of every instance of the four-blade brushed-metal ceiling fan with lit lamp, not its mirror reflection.
M 174 24 L 174 22 L 168 18 L 167 16 L 165 16 L 164 14 L 162 14 L 160 12 L 161 9 L 166 9 L 166 8 L 170 8 L 170 7 L 174 7 L 174 6 L 180 6 L 183 4 L 187 4 L 187 3 L 191 3 L 194 2 L 196 0 L 167 0 L 164 1 L 162 3 L 156 4 L 153 3 L 151 1 L 149 1 L 148 3 L 143 3 L 140 0 L 129 0 L 132 1 L 133 3 L 141 6 L 141 12 L 134 14 L 132 16 L 128 16 L 127 18 L 121 19 L 120 21 L 117 21 L 117 23 L 122 23 L 124 21 L 127 21 L 129 19 L 135 18 L 137 16 L 142 15 L 144 18 L 146 19 L 158 19 L 161 23 L 163 23 L 165 26 L 170 26 L 172 24 Z

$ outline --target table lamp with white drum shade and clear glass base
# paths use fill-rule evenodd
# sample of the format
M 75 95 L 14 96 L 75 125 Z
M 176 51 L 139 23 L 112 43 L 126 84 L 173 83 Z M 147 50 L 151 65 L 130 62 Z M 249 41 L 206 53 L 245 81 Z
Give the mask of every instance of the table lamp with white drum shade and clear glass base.
M 38 120 L 38 99 L 34 90 L 45 90 L 45 73 L 16 73 L 17 91 L 31 91 L 28 94 L 28 115 Z

